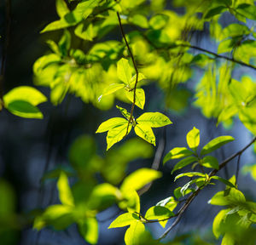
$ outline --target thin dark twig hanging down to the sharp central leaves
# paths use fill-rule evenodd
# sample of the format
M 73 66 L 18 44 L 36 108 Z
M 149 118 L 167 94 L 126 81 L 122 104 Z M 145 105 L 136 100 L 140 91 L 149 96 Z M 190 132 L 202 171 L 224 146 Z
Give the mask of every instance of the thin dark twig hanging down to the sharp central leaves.
M 120 27 L 120 30 L 121 30 L 121 33 L 122 33 L 122 36 L 124 37 L 125 39 L 125 44 L 126 44 L 126 47 L 128 48 L 128 51 L 129 51 L 129 54 L 131 56 L 131 60 L 132 60 L 132 63 L 133 63 L 133 66 L 134 66 L 134 69 L 136 71 L 136 82 L 134 84 L 134 88 L 133 88 L 133 102 L 132 102 L 132 105 L 131 105 L 131 116 L 129 118 L 129 122 L 128 122 L 128 126 L 127 126 L 127 130 L 126 130 L 126 134 L 128 134 L 128 131 L 129 131 L 129 127 L 130 127 L 130 123 L 132 122 L 132 115 L 133 115 L 133 111 L 134 111 L 134 107 L 135 107 L 135 102 L 136 102 L 136 88 L 137 88 L 137 80 L 138 80 L 138 71 L 137 71 L 137 66 L 136 66 L 136 63 L 135 63 L 135 59 L 134 59 L 134 56 L 131 52 L 131 48 L 130 48 L 130 45 L 125 37 L 125 31 L 124 31 L 124 28 L 123 28 L 123 25 L 122 25 L 122 22 L 121 22 L 121 18 L 120 18 L 120 14 L 119 12 L 116 12 L 117 16 L 118 16 L 118 19 L 119 19 L 119 27 Z

